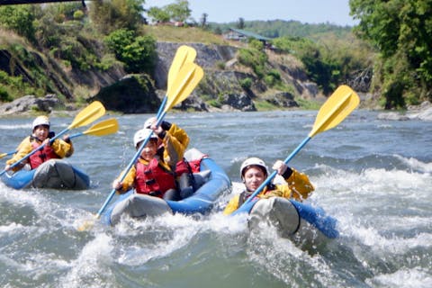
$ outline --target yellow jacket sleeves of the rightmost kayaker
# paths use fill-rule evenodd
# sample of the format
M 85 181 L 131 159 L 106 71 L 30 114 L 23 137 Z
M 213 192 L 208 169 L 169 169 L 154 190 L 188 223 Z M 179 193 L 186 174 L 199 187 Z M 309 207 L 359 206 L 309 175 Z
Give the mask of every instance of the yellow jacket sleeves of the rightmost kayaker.
M 266 187 L 261 193 L 257 194 L 257 197 L 269 198 L 278 196 L 284 198 L 293 198 L 297 201 L 302 201 L 303 199 L 308 198 L 309 194 L 315 190 L 309 180 L 308 175 L 298 172 L 294 168 L 292 168 L 292 170 L 293 173 L 289 176 L 289 178 L 285 179 L 287 184 L 275 184 L 275 189 L 271 191 L 267 191 Z M 233 211 L 236 211 L 238 209 L 239 199 L 239 194 L 231 198 L 223 213 L 225 215 L 229 215 Z

